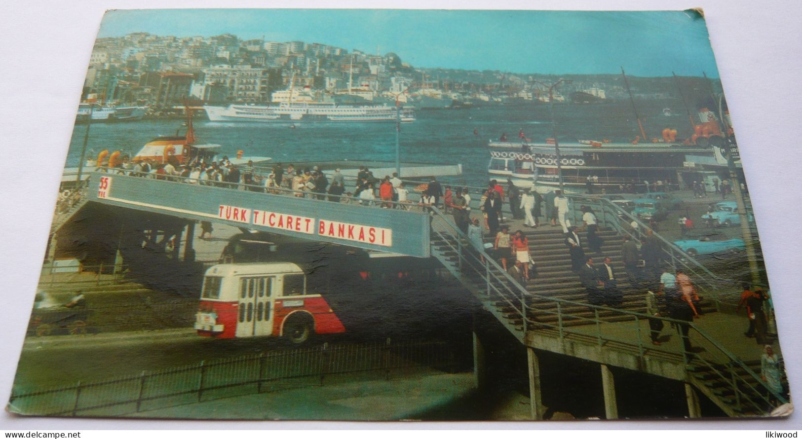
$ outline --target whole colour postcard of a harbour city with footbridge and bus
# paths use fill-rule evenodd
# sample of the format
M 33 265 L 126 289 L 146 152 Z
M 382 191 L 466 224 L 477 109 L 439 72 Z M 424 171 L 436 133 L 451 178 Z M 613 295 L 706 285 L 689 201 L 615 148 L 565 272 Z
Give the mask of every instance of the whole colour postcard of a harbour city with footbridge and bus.
M 792 413 L 702 10 L 110 10 L 75 93 L 12 413 Z

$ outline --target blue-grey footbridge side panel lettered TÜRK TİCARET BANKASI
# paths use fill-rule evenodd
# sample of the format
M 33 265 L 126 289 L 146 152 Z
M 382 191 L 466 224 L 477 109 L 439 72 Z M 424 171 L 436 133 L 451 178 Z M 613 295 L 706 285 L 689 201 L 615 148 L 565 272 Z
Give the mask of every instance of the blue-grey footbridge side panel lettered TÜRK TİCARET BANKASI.
M 429 215 L 423 211 L 382 208 L 378 201 L 363 205 L 349 197 L 338 203 L 284 188 L 265 193 L 259 186 L 162 178 L 93 172 L 87 200 L 306 240 L 430 256 Z

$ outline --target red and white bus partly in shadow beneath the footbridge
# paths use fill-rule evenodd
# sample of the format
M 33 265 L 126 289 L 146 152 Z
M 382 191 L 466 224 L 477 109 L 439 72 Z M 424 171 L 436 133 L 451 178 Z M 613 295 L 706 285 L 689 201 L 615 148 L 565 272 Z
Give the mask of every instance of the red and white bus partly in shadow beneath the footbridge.
M 435 258 L 257 232 L 233 236 L 221 260 L 205 272 L 201 336 L 302 344 L 346 331 L 407 335 L 470 315 L 470 295 Z

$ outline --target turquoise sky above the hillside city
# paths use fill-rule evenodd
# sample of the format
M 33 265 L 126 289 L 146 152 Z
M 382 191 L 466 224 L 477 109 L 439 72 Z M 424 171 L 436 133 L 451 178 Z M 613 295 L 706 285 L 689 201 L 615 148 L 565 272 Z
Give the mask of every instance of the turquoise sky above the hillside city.
M 704 18 L 691 11 L 110 10 L 98 36 L 132 32 L 379 46 L 415 67 L 719 77 Z

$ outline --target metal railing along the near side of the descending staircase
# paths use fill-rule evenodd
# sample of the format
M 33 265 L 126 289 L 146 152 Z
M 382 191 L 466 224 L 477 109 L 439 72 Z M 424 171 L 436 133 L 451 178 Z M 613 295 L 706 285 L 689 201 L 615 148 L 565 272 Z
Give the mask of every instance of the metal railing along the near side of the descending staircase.
M 549 332 L 561 341 L 571 337 L 600 347 L 636 353 L 638 356 L 661 356 L 675 364 L 707 366 L 719 373 L 721 378 L 723 374 L 719 369 L 728 369 L 732 371 L 731 377 L 723 385 L 737 396 L 737 405 L 748 403 L 759 410 L 776 406 L 771 397 L 779 404 L 788 402 L 779 393 L 768 389 L 747 364 L 692 322 L 529 292 L 488 256 L 483 247 L 469 240 L 439 209 L 431 207 L 431 212 L 432 236 L 435 238 L 432 242 L 432 255 L 478 296 L 485 308 L 518 340 L 524 340 L 527 331 Z M 592 312 L 592 316 L 582 315 L 588 312 Z M 548 319 L 538 318 L 549 315 L 555 316 L 557 322 L 549 323 Z M 693 332 L 694 340 L 703 343 L 699 348 L 703 348 L 704 355 L 693 349 L 687 351 L 684 343 L 673 350 L 650 346 L 645 341 L 648 338 L 643 334 L 648 333 L 648 329 L 642 326 L 651 319 L 662 320 L 664 325 L 687 328 L 688 337 Z M 617 324 L 611 320 L 628 320 L 633 325 L 632 330 L 608 332 L 608 325 Z M 626 321 L 622 324 L 626 324 Z M 681 332 L 680 338 L 684 338 Z M 751 381 L 746 377 L 750 377 Z M 752 382 L 757 385 L 752 385 Z

